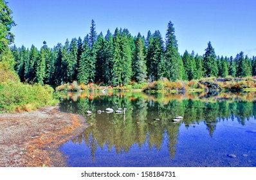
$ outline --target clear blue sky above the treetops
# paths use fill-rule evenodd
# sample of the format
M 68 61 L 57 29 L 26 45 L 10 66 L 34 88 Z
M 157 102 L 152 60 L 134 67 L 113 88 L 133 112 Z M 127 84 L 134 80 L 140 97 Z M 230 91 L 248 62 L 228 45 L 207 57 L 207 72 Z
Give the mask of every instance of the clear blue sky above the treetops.
M 41 48 L 46 40 L 53 48 L 73 37 L 84 39 L 95 20 L 97 33 L 127 28 L 131 35 L 160 30 L 174 23 L 179 53 L 199 55 L 212 42 L 217 55 L 235 56 L 240 51 L 256 56 L 255 0 L 7 0 L 17 26 L 15 44 Z

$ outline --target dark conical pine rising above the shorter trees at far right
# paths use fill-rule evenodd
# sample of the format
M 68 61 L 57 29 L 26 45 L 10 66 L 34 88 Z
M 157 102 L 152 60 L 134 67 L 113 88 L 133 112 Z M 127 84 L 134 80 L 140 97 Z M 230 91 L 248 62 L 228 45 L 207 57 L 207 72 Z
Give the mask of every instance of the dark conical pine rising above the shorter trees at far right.
M 216 61 L 216 55 L 214 48 L 212 48 L 211 42 L 208 42 L 208 46 L 205 49 L 205 55 L 203 57 L 203 71 L 204 76 L 217 76 L 218 75 L 218 67 Z

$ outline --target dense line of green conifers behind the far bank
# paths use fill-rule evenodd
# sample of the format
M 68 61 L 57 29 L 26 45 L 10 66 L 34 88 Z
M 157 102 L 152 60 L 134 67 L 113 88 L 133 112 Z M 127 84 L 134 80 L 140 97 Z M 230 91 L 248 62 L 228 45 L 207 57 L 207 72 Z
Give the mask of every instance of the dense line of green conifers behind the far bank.
M 32 45 L 30 49 L 13 46 L 15 71 L 21 81 L 60 85 L 78 80 L 79 83 L 102 82 L 121 85 L 135 82 L 152 82 L 160 78 L 192 80 L 208 76 L 251 76 L 256 75 L 256 58 L 248 58 L 241 52 L 233 57 L 215 55 L 211 42 L 203 56 L 194 51 L 178 53 L 174 24 L 169 22 L 165 41 L 160 31 L 148 31 L 145 38 L 140 33 L 133 37 L 129 30 L 109 30 L 107 35 L 96 33 L 95 22 L 91 21 L 89 34 L 82 40 L 67 39 L 49 48 Z

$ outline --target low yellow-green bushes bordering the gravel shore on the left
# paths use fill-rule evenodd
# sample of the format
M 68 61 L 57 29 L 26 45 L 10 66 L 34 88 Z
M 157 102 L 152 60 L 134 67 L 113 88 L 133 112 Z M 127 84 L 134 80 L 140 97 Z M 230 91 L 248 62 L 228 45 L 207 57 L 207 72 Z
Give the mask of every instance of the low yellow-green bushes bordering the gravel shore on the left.
M 12 80 L 1 83 L 0 111 L 32 111 L 57 102 L 49 85 L 30 85 Z

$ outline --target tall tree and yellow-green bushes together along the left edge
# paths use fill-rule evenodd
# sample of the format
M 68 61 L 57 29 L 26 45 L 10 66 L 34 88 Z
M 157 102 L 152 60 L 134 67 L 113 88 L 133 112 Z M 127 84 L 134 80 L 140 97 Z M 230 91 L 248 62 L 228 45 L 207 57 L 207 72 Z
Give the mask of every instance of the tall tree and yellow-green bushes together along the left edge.
M 14 71 L 15 59 L 8 45 L 14 42 L 10 32 L 15 22 L 12 11 L 0 0 L 0 113 L 31 111 L 45 105 L 57 104 L 50 85 L 27 84 L 20 82 Z

